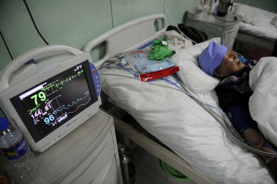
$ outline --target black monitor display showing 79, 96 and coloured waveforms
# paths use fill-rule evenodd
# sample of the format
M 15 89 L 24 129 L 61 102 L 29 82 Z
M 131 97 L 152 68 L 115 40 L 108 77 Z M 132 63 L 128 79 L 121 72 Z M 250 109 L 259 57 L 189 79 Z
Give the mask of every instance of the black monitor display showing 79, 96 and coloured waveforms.
M 83 64 L 43 81 L 18 97 L 41 136 L 93 102 Z

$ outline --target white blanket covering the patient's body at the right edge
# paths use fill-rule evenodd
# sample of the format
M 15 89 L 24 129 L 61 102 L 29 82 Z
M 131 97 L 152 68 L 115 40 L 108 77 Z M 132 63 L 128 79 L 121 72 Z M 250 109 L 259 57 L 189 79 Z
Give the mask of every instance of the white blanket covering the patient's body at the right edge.
M 277 58 L 264 57 L 250 71 L 249 99 L 251 117 L 265 138 L 277 146 Z

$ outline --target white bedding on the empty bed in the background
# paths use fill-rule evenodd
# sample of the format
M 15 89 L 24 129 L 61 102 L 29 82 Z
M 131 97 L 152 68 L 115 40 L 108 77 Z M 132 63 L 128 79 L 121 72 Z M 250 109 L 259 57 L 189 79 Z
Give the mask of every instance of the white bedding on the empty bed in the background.
M 277 28 L 271 24 L 276 13 L 240 3 L 235 3 L 234 6 L 235 14 L 243 17 L 239 23 L 240 31 L 273 41 L 277 39 Z

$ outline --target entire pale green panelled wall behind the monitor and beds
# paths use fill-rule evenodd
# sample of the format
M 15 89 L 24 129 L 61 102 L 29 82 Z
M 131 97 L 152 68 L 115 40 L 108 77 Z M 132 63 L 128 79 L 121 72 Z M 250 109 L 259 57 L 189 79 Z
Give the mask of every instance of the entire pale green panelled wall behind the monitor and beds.
M 168 25 L 172 20 L 161 0 L 26 0 L 38 29 L 50 44 L 64 44 L 82 50 L 87 41 L 130 20 L 163 13 Z M 201 0 L 162 0 L 173 20 L 183 23 L 186 10 Z M 235 0 L 238 2 L 239 0 Z M 241 3 L 275 11 L 277 1 L 242 0 Z M 158 21 L 158 27 L 160 22 Z M 13 58 L 33 48 L 46 45 L 35 30 L 22 0 L 0 1 L 0 30 Z M 0 39 L 0 70 L 10 61 L 10 55 Z M 105 54 L 102 43 L 92 52 L 96 61 Z

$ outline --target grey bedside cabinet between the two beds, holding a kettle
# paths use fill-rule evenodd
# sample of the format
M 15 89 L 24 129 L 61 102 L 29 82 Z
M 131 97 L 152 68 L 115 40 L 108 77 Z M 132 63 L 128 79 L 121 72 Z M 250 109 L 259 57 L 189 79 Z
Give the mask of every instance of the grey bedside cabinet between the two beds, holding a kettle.
M 237 32 L 239 31 L 239 22 L 242 21 L 242 16 L 227 14 L 224 17 L 218 17 L 213 14 L 205 14 L 204 17 L 205 19 L 202 20 L 190 20 L 186 18 L 185 25 L 205 32 L 208 35 L 208 39 L 213 37 L 222 38 L 222 32 L 218 29 L 220 28 L 224 34 L 224 45 L 232 49 Z

